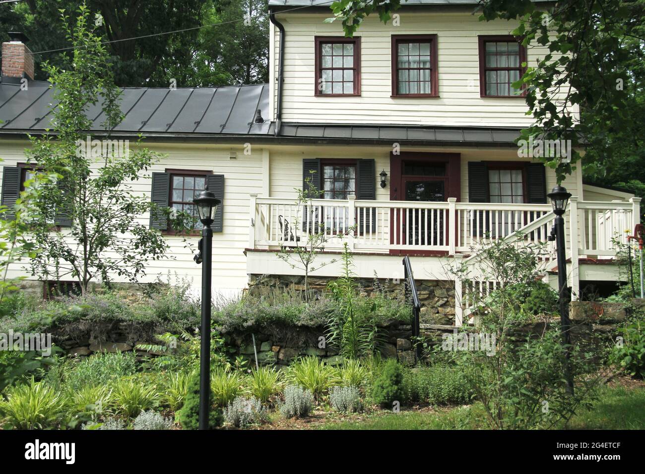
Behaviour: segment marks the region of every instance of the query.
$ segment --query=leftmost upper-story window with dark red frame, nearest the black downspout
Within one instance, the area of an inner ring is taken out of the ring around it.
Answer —
[[[315,37],[315,95],[361,95],[361,38]]]

